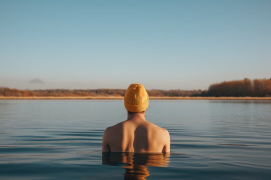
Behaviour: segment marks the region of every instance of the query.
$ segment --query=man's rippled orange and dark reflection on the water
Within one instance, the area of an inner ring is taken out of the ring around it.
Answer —
[[[148,166],[167,167],[170,153],[102,152],[102,164],[122,166],[124,179],[146,179]]]

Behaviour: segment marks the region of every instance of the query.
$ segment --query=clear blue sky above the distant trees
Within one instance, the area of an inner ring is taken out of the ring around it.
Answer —
[[[271,0],[0,0],[0,86],[207,89],[271,77]]]

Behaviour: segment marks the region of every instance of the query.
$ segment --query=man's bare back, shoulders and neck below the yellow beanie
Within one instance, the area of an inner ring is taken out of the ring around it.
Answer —
[[[127,120],[105,129],[105,152],[169,152],[169,132],[145,119],[145,113],[128,115]]]

